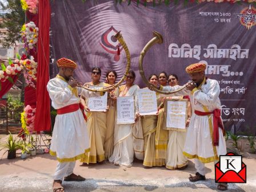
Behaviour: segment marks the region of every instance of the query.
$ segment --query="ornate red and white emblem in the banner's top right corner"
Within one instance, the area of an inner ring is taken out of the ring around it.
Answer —
[[[235,18],[239,19],[240,23],[249,30],[256,24],[256,9],[249,5],[240,14],[235,14]]]

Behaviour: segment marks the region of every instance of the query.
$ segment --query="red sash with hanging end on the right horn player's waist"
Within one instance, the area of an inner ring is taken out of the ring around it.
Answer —
[[[206,116],[213,114],[213,145],[219,145],[219,128],[222,129],[223,135],[225,134],[224,126],[221,120],[221,110],[215,109],[213,112],[202,112],[195,110],[195,115]]]

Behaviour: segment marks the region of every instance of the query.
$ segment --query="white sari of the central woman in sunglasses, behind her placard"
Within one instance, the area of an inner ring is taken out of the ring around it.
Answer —
[[[130,87],[127,93],[121,92],[119,96],[135,96],[137,97],[138,85]],[[135,99],[135,110],[138,111],[137,99]],[[133,164],[134,148],[136,150],[136,157],[143,158],[143,133],[141,126],[136,124],[118,125],[115,120],[114,129],[114,150],[112,156],[109,158],[110,162],[116,165],[123,165],[130,167]],[[133,137],[134,136],[136,137]],[[141,137],[141,139],[139,138]]]

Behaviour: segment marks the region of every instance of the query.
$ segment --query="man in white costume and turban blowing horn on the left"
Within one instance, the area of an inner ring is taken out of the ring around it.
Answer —
[[[51,105],[57,109],[53,137],[51,138],[50,154],[57,156],[58,164],[54,173],[53,191],[64,191],[64,181],[85,181],[85,178],[73,173],[75,161],[89,152],[89,137],[85,117],[80,110],[80,99],[99,96],[77,87],[77,80],[72,78],[77,64],[72,60],[61,58],[57,60],[58,75],[47,84]],[[72,79],[72,80],[71,80]]]

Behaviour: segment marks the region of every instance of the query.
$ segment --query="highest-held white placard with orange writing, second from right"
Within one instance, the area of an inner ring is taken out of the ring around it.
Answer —
[[[139,89],[138,107],[139,115],[155,115],[157,113],[157,95],[150,89]]]

